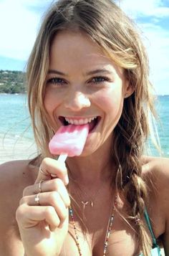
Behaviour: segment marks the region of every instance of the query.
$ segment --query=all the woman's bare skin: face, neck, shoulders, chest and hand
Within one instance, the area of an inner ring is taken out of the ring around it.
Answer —
[[[107,71],[89,74],[102,69]],[[100,116],[100,122],[87,137],[82,155],[67,158],[71,171],[69,185],[66,166],[52,158],[44,158],[41,166],[46,174],[57,175],[57,179],[45,176],[39,171],[38,164],[32,165],[29,161],[13,161],[0,166],[0,202],[3,209],[0,215],[1,255],[20,256],[24,255],[24,250],[27,256],[79,255],[74,243],[72,223],[68,224],[68,186],[79,204],[77,186],[85,191],[81,193],[84,201],[87,201],[86,194],[91,197],[97,191],[95,206],[87,206],[84,212],[87,240],[84,239],[76,214],[74,220],[82,255],[103,254],[112,198],[115,197],[113,188],[110,189],[110,178],[115,171],[109,154],[113,129],[122,113],[126,94],[129,97],[132,92],[123,71],[86,35],[60,32],[54,38],[44,97],[44,105],[54,130],[57,131],[62,125],[59,120],[61,115],[76,120]],[[142,163],[143,178],[149,188],[147,208],[153,232],[155,237],[162,240],[165,254],[168,255],[169,204],[166,195],[169,192],[169,161],[166,158],[162,161],[161,158],[143,156]],[[41,206],[37,206],[34,198],[42,179],[42,193],[39,195]],[[126,210],[122,199],[118,200],[117,207],[122,212]],[[135,232],[119,214],[115,214],[107,255],[138,254]]]

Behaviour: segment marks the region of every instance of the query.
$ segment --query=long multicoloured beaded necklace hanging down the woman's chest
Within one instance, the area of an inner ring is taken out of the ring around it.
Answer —
[[[103,256],[105,256],[106,252],[107,252],[107,245],[108,245],[108,240],[109,240],[109,237],[110,237],[110,233],[112,232],[112,222],[113,222],[114,217],[115,217],[115,207],[116,207],[116,205],[117,205],[117,196],[115,196],[114,206],[112,208],[112,214],[110,216],[108,226],[107,226],[107,232],[106,232],[106,236],[105,236],[105,243],[104,243],[104,247],[103,247]],[[78,252],[79,252],[79,256],[82,256],[82,250],[79,246],[79,237],[77,235],[77,227],[76,227],[75,222],[74,222],[74,214],[73,214],[73,210],[72,210],[71,206],[69,206],[69,215],[72,219],[72,223],[73,223],[73,227],[74,227],[75,241],[76,241],[77,249],[78,249]]]

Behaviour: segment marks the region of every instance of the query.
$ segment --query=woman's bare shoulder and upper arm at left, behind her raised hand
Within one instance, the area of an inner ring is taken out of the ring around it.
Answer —
[[[37,168],[29,161],[0,165],[0,255],[24,255],[15,213],[23,190],[34,184]]]

